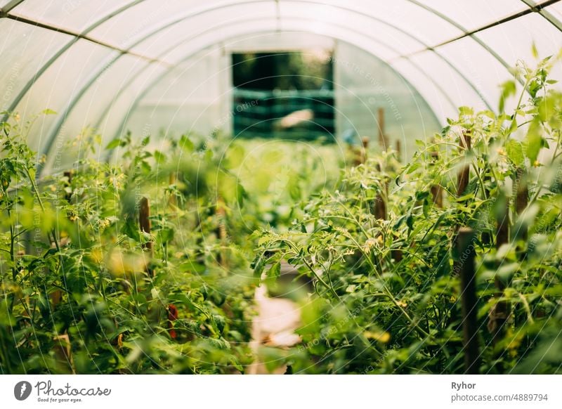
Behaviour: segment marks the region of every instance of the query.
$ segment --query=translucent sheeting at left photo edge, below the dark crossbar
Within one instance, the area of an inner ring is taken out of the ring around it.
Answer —
[[[0,70],[2,84],[1,108],[10,108],[12,101],[63,44],[72,37],[23,22],[0,20]]]

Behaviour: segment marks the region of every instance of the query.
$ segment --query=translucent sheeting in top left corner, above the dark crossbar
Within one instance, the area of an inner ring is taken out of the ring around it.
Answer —
[[[131,0],[25,0],[10,13],[65,30],[81,32]]]

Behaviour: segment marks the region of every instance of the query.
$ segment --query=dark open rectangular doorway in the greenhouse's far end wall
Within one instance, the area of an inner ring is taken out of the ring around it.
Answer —
[[[237,138],[334,141],[332,53],[233,53]]]

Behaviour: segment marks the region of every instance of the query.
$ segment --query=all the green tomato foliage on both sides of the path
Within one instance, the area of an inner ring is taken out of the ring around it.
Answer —
[[[182,136],[166,152],[126,136],[107,145],[118,163],[103,162],[100,137],[84,133],[71,172],[37,178],[30,124],[0,124],[0,371],[244,373],[254,288],[287,261],[313,290],[297,299],[302,342],[261,346],[270,370],[463,372],[452,242],[470,226],[481,372],[560,372],[562,93],[550,65],[518,67],[499,113],[460,108],[410,163],[368,152],[341,173],[334,146],[222,136]],[[494,342],[499,301],[509,316]]]

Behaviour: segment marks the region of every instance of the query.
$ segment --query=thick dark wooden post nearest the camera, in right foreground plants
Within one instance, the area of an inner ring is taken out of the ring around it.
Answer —
[[[478,299],[476,297],[476,271],[474,269],[474,231],[462,227],[457,234],[457,252],[461,262],[462,339],[464,346],[464,373],[478,374]]]

